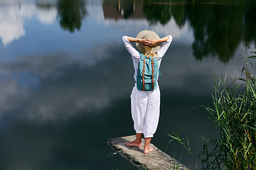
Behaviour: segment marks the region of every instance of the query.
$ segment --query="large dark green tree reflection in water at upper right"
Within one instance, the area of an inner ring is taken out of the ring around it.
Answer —
[[[171,18],[193,30],[193,56],[196,60],[218,56],[228,63],[242,40],[256,41],[255,1],[144,1],[144,14],[151,25],[166,25]],[[242,6],[242,7],[241,7]],[[171,31],[171,30],[170,30]]]

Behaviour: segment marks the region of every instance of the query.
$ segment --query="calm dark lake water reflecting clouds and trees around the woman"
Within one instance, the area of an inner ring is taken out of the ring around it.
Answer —
[[[173,36],[152,142],[191,165],[166,133],[188,137],[195,154],[201,136],[218,135],[200,106],[211,102],[213,75],[240,77],[243,42],[255,47],[255,11],[253,0],[0,0],[0,169],[132,169],[107,158],[107,139],[134,135],[122,35],[140,30]]]

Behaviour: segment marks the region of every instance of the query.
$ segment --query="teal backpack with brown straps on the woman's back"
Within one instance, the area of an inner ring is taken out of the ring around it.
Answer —
[[[157,87],[156,79],[159,62],[156,58],[149,55],[144,56],[140,53],[140,56],[137,72],[137,89],[139,91],[154,91]]]

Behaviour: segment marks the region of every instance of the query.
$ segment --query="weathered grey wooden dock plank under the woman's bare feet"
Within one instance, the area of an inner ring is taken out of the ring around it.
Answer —
[[[114,149],[115,152],[127,159],[131,164],[137,167],[137,169],[174,169],[174,166],[179,170],[188,169],[181,163],[168,154],[162,152],[160,149],[150,144],[149,147],[153,147],[154,151],[144,154],[144,140],[142,139],[142,147],[129,147],[125,145],[127,142],[135,140],[136,136],[117,137],[107,140],[107,144]]]

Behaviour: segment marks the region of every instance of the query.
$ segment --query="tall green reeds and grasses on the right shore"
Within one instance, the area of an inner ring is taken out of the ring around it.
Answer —
[[[245,44],[247,50],[251,49]],[[242,58],[255,60],[256,49],[251,52],[252,55]],[[254,68],[251,62],[246,64]],[[219,129],[219,135],[208,140],[202,137],[204,145],[200,154],[193,156],[188,139],[168,134],[172,138],[169,142],[179,142],[186,148],[196,169],[199,161],[201,169],[256,169],[256,77],[248,67],[240,72],[243,78],[235,79],[230,85],[227,85],[227,73],[215,77],[213,108],[201,107],[210,113],[208,118]]]

